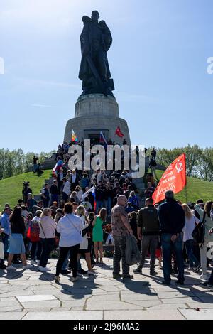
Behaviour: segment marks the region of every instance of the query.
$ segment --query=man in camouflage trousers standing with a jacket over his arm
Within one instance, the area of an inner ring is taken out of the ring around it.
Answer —
[[[114,238],[113,278],[120,275],[120,262],[122,261],[123,279],[132,279],[129,274],[129,264],[126,264],[126,237],[133,235],[128,215],[125,211],[127,205],[126,196],[120,195],[117,204],[111,210],[112,235]]]

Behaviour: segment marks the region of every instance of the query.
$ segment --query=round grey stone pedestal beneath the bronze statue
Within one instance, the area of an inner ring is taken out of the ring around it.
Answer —
[[[115,135],[117,126],[120,126],[123,138]],[[119,118],[119,104],[115,97],[102,94],[80,96],[75,104],[75,118],[67,122],[65,129],[67,142],[70,142],[72,129],[80,141],[99,139],[102,131],[107,141],[111,139],[117,144],[122,144],[125,138],[127,144],[131,144],[128,125],[124,119]]]

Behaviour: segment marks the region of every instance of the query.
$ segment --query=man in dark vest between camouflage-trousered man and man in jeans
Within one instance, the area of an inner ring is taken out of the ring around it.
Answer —
[[[136,274],[142,274],[142,268],[148,252],[151,250],[150,274],[156,275],[155,271],[155,252],[158,247],[160,224],[158,220],[158,210],[153,205],[153,198],[147,198],[146,208],[138,211],[138,239],[141,240],[141,262],[138,268],[133,270]]]

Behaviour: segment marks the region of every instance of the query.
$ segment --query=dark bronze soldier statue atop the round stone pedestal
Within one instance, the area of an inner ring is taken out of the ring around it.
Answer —
[[[82,95],[102,93],[112,95],[114,82],[111,79],[107,51],[112,38],[105,21],[99,22],[98,11],[92,17],[83,16],[84,28],[80,36],[82,61],[79,78],[82,80]]]

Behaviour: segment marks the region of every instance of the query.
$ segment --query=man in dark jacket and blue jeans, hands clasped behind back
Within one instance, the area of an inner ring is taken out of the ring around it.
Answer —
[[[174,199],[174,193],[165,193],[165,203],[159,206],[161,242],[163,249],[163,284],[170,285],[171,253],[175,252],[178,263],[177,284],[184,284],[184,262],[182,257],[182,229],[185,226],[185,213]]]

